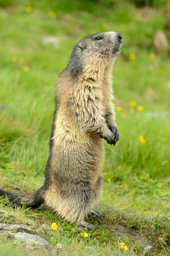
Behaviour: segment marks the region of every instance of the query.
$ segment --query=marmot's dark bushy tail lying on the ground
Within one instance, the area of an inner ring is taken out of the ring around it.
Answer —
[[[21,205],[21,206],[25,205],[26,207],[36,208],[40,204],[44,203],[44,192],[45,190],[44,190],[44,187],[42,186],[40,189],[38,189],[33,193],[19,197],[16,194],[0,189],[0,196],[6,195],[8,197],[8,200],[12,204]]]

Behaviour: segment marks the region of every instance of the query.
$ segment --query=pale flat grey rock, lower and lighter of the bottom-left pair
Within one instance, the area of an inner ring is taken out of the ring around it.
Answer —
[[[22,232],[18,232],[14,234],[14,238],[21,239],[23,240],[23,242],[29,245],[32,245],[32,244],[47,245],[48,244],[48,241],[41,238],[40,236],[22,233]]]

